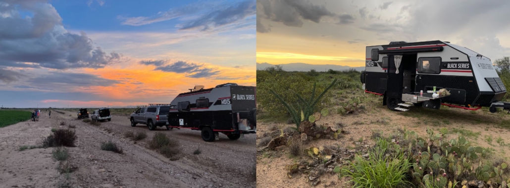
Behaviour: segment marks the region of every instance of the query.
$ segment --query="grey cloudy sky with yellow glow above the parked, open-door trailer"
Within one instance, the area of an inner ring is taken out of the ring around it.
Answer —
[[[510,1],[257,0],[257,63],[364,66],[365,46],[442,40],[510,56]]]

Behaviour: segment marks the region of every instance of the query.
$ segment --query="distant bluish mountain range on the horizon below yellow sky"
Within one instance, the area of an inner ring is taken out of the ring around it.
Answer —
[[[267,67],[272,67],[274,65],[269,63],[257,63],[257,70],[264,70]],[[349,67],[342,65],[312,65],[306,63],[289,63],[281,65],[285,71],[310,71],[311,69],[315,69],[316,71],[327,71],[329,69],[332,70],[347,70],[354,69],[357,71],[365,70],[365,67]]]

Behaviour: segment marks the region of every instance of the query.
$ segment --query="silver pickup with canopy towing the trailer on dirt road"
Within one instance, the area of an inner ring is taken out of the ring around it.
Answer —
[[[170,111],[170,104],[149,104],[147,107],[137,109],[131,114],[131,126],[134,127],[136,124],[145,124],[149,127],[149,130],[156,130],[158,126],[168,127],[168,112]]]

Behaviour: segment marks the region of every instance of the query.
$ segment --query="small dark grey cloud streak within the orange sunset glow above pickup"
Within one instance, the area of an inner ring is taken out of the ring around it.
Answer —
[[[184,61],[177,61],[172,64],[167,64],[168,61],[157,60],[157,61],[141,61],[139,64],[143,65],[154,65],[154,70],[161,70],[163,72],[175,72],[186,74],[187,77],[201,78],[210,77],[219,73],[213,68],[205,68],[203,65],[195,63],[187,63]]]

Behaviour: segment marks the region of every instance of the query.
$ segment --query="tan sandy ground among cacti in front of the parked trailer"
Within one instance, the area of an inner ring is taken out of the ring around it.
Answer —
[[[377,103],[377,104],[376,104]],[[367,105],[367,104],[365,104]],[[447,108],[431,110],[424,108],[412,108],[407,112],[393,112],[386,106],[380,105],[378,102],[372,102],[366,106],[367,110],[363,113],[355,115],[333,115],[324,117],[317,124],[327,124],[336,126],[337,123],[345,125],[344,130],[350,132],[338,140],[313,140],[305,144],[305,148],[319,146],[341,146],[354,147],[355,142],[363,139],[363,145],[373,145],[375,141],[371,139],[372,131],[384,131],[384,136],[397,132],[397,128],[413,130],[420,137],[426,137],[426,128],[431,128],[435,133],[440,130],[447,130],[446,139],[456,138],[457,132],[464,131],[465,137],[474,145],[492,148],[493,154],[491,159],[502,158],[510,162],[510,115],[505,113],[491,114],[487,110],[468,111],[456,108]],[[330,112],[333,109],[330,110]],[[270,132],[279,131],[286,127],[293,127],[293,124],[260,122],[258,126],[259,143],[263,136],[269,135]],[[286,165],[292,165],[300,159],[293,157],[284,147],[283,151],[270,156],[259,152],[257,156],[257,186],[258,187],[311,187],[309,182],[305,181],[308,176],[301,175],[293,178],[287,177]],[[303,159],[310,158],[304,156]],[[339,179],[336,174],[325,174],[320,177],[321,183],[316,187],[350,187],[345,183],[345,178]]]

